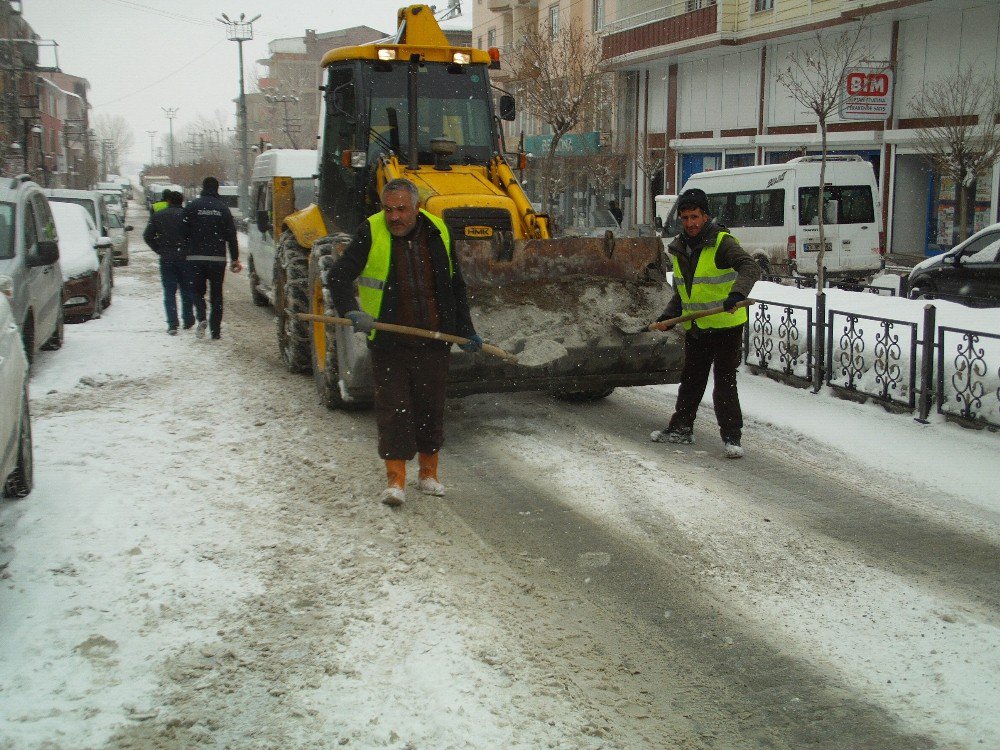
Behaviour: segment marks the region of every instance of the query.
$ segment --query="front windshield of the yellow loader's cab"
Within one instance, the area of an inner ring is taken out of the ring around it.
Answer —
[[[370,73],[370,156],[391,148],[401,159],[409,154],[407,134],[408,63]],[[432,138],[455,142],[453,164],[485,164],[496,144],[489,113],[489,81],[481,65],[421,64],[417,74],[417,150],[421,164],[434,161]]]

